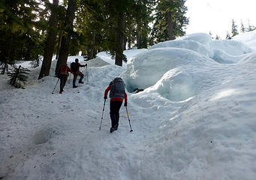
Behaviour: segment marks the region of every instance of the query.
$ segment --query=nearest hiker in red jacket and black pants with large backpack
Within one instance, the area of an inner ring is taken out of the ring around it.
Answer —
[[[107,93],[110,91],[110,118],[111,128],[110,133],[117,130],[119,125],[119,110],[122,106],[122,101],[125,99],[124,106],[127,107],[127,95],[125,92],[125,83],[121,77],[116,77],[110,82],[104,93],[104,99],[107,99]]]

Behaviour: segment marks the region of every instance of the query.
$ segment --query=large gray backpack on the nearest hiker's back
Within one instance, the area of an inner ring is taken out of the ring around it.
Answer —
[[[125,98],[125,83],[121,77],[116,77],[110,83],[110,99],[113,98]]]

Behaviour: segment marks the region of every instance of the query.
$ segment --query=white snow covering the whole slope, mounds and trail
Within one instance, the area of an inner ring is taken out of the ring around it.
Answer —
[[[74,58],[88,64],[80,69],[85,84],[72,89],[68,78],[62,95],[59,84],[52,95],[56,61],[42,80],[40,67],[31,68],[26,89],[14,89],[1,75],[0,177],[253,180],[255,33],[230,41],[188,34],[125,51],[124,67],[106,52],[86,62],[71,56],[68,65]],[[114,77],[125,80],[133,132],[125,107],[119,129],[109,132],[103,96]]]

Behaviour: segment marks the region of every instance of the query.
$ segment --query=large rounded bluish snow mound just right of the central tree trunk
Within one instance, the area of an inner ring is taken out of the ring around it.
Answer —
[[[134,92],[135,89],[146,89],[155,85],[167,71],[172,71],[175,68],[184,67],[185,70],[189,71],[191,66],[197,67],[191,68],[190,72],[184,72],[184,74],[182,71],[180,71],[181,74],[177,72],[170,73],[173,74],[176,80],[182,81],[182,78],[185,77],[191,80],[192,73],[197,74],[198,71],[209,71],[209,67],[214,65],[218,65],[218,63],[188,49],[157,48],[150,49],[148,52],[137,55],[136,58],[132,59],[122,77],[125,80],[128,92]],[[176,75],[174,76],[174,74]],[[166,76],[170,77],[170,75]],[[173,82],[173,80],[170,80],[170,82]],[[185,91],[193,92],[192,89]],[[173,95],[170,96],[173,97]]]

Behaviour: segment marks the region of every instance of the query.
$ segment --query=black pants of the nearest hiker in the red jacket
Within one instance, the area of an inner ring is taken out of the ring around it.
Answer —
[[[116,129],[119,125],[119,110],[121,106],[122,101],[110,101],[111,127]]]

